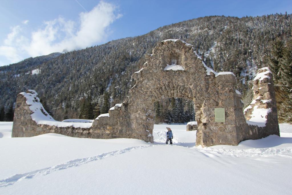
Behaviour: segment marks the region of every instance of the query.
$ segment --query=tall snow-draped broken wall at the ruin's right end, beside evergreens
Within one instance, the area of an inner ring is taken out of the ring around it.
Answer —
[[[253,100],[244,109],[244,116],[250,128],[249,137],[252,139],[270,134],[280,135],[272,78],[270,69],[264,67],[258,70],[253,79]]]

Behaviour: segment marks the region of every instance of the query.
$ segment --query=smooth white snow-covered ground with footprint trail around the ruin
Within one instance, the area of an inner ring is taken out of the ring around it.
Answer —
[[[165,145],[166,127],[174,145]],[[58,134],[11,138],[0,122],[0,194],[291,194],[292,125],[281,137],[195,146],[186,125],[155,125],[154,143]]]

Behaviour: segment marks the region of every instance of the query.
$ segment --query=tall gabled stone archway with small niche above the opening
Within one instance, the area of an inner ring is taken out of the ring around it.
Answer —
[[[233,73],[218,74],[207,68],[192,46],[181,40],[160,42],[152,52],[143,68],[134,73],[136,84],[129,90],[127,103],[133,129],[152,134],[151,108],[158,99],[188,98],[195,104],[197,145],[238,144],[239,124],[245,123],[245,118]],[[166,68],[173,58],[177,66]],[[214,108],[225,108],[224,123],[215,122]],[[150,137],[148,141],[152,141]]]

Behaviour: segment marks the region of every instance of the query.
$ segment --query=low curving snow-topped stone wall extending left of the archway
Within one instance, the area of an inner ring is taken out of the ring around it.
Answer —
[[[56,121],[40,103],[34,90],[18,94],[15,105],[12,137],[32,137],[45,133],[58,133],[81,138],[128,138],[127,114],[122,103],[109,109],[109,113],[95,120],[66,119]],[[93,125],[94,124],[94,125]],[[109,126],[114,127],[109,131]]]

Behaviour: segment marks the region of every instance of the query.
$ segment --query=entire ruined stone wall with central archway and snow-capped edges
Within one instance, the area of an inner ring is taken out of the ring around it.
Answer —
[[[217,73],[208,68],[192,45],[184,41],[165,40],[146,55],[146,63],[132,75],[136,84],[125,101],[93,123],[55,121],[39,103],[36,92],[18,94],[12,136],[53,132],[72,137],[153,142],[153,104],[172,97],[194,101],[197,146],[238,145],[246,139],[279,135],[272,73],[268,68],[258,73],[253,81],[254,100],[243,112],[233,73]]]

